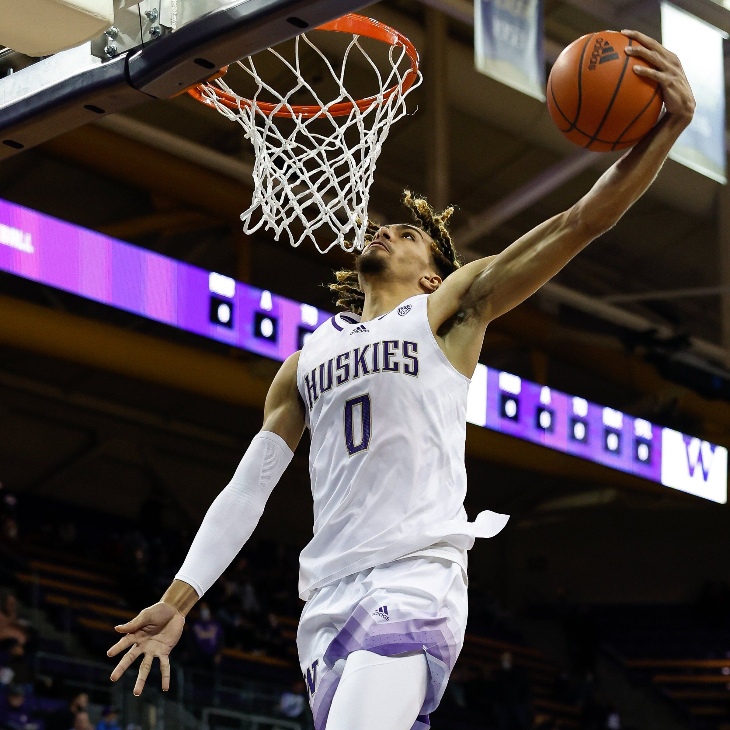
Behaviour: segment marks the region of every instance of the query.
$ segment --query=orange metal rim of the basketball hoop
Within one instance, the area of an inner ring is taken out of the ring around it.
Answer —
[[[402,33],[394,30],[390,26],[386,26],[385,23],[380,23],[379,20],[373,18],[366,18],[364,15],[357,15],[354,12],[343,15],[342,18],[332,20],[330,23],[325,23],[323,26],[315,28],[316,31],[336,31],[337,33],[351,33],[356,36],[364,36],[366,38],[373,38],[383,43],[388,43],[393,46],[401,46],[410,58],[411,67],[410,71],[404,77],[402,84],[402,92],[407,91],[411,88],[415,80],[418,78],[418,51],[415,50],[415,46],[410,42],[407,37]],[[393,93],[398,91],[399,85],[396,84],[391,86],[387,91],[383,93],[383,101],[389,99]],[[228,107],[231,110],[238,110],[239,101],[235,96],[223,91],[217,86],[212,85],[210,82],[194,86],[188,89],[188,93],[200,101],[201,104],[205,104],[207,107],[215,108],[215,104],[208,98],[207,94],[204,93],[204,89],[209,89],[215,96],[218,97],[220,104],[224,107]],[[378,100],[378,96],[368,96],[366,99],[359,99],[358,101],[342,101],[339,104],[333,104],[328,107],[329,115],[333,117],[344,117],[350,114],[350,112],[357,107],[359,110],[364,111],[372,106],[374,101]],[[249,104],[253,104],[251,99],[244,99]],[[302,117],[304,119],[310,119],[320,115],[324,107],[320,107],[317,104],[314,105],[299,105],[291,106],[286,109],[280,108],[278,104],[269,104],[268,101],[257,101],[256,108],[266,116],[274,117]],[[278,108],[278,111],[276,111]]]

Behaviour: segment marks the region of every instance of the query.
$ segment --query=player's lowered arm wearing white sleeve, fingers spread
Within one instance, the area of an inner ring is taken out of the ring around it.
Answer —
[[[112,672],[118,680],[144,654],[134,694],[142,694],[153,659],[160,660],[162,688],[170,685],[169,653],[180,639],[185,616],[237,556],[264,512],[266,499],[291,461],[304,431],[304,404],[296,387],[299,353],[274,378],[264,406],[264,426],[251,441],[231,482],[211,504],[183,567],[158,603],[115,630],[125,636],[107,652],[128,649]]]

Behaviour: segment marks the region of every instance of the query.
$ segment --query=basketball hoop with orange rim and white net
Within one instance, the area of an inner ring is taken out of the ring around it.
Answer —
[[[188,93],[238,122],[253,144],[253,199],[241,215],[245,233],[264,226],[274,231],[277,240],[285,231],[292,246],[309,238],[320,253],[336,245],[348,251],[362,250],[377,158],[393,122],[407,114],[406,96],[420,85],[418,51],[393,28],[354,13],[315,30],[352,34],[339,69],[302,34],[295,39],[293,62],[277,50],[268,49],[293,74],[291,91],[281,93],[264,81],[253,56],[249,56],[237,61],[237,66],[255,84],[251,98],[239,96],[223,77]],[[361,37],[390,46],[388,69],[379,69],[362,46]],[[304,79],[300,47],[318,54],[331,74],[337,87],[331,101],[322,101],[312,83]],[[363,99],[353,98],[345,88],[345,68],[355,53],[361,53],[361,60],[372,69],[378,84],[377,93]],[[274,101],[264,101],[262,93]],[[316,103],[295,104],[291,97],[296,93],[308,93]],[[283,118],[292,123],[277,126],[277,119]],[[315,237],[315,231],[322,226],[335,234],[334,240],[323,241],[321,234],[319,239]],[[352,240],[347,242],[346,238]]]

